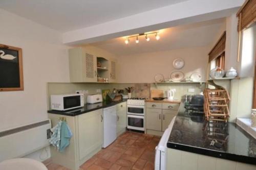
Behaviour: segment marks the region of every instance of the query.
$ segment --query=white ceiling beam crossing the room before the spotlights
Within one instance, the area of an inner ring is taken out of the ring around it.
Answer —
[[[244,0],[189,0],[62,34],[65,44],[76,45],[160,30],[192,22],[230,16]],[[127,7],[129,8],[129,7]]]

